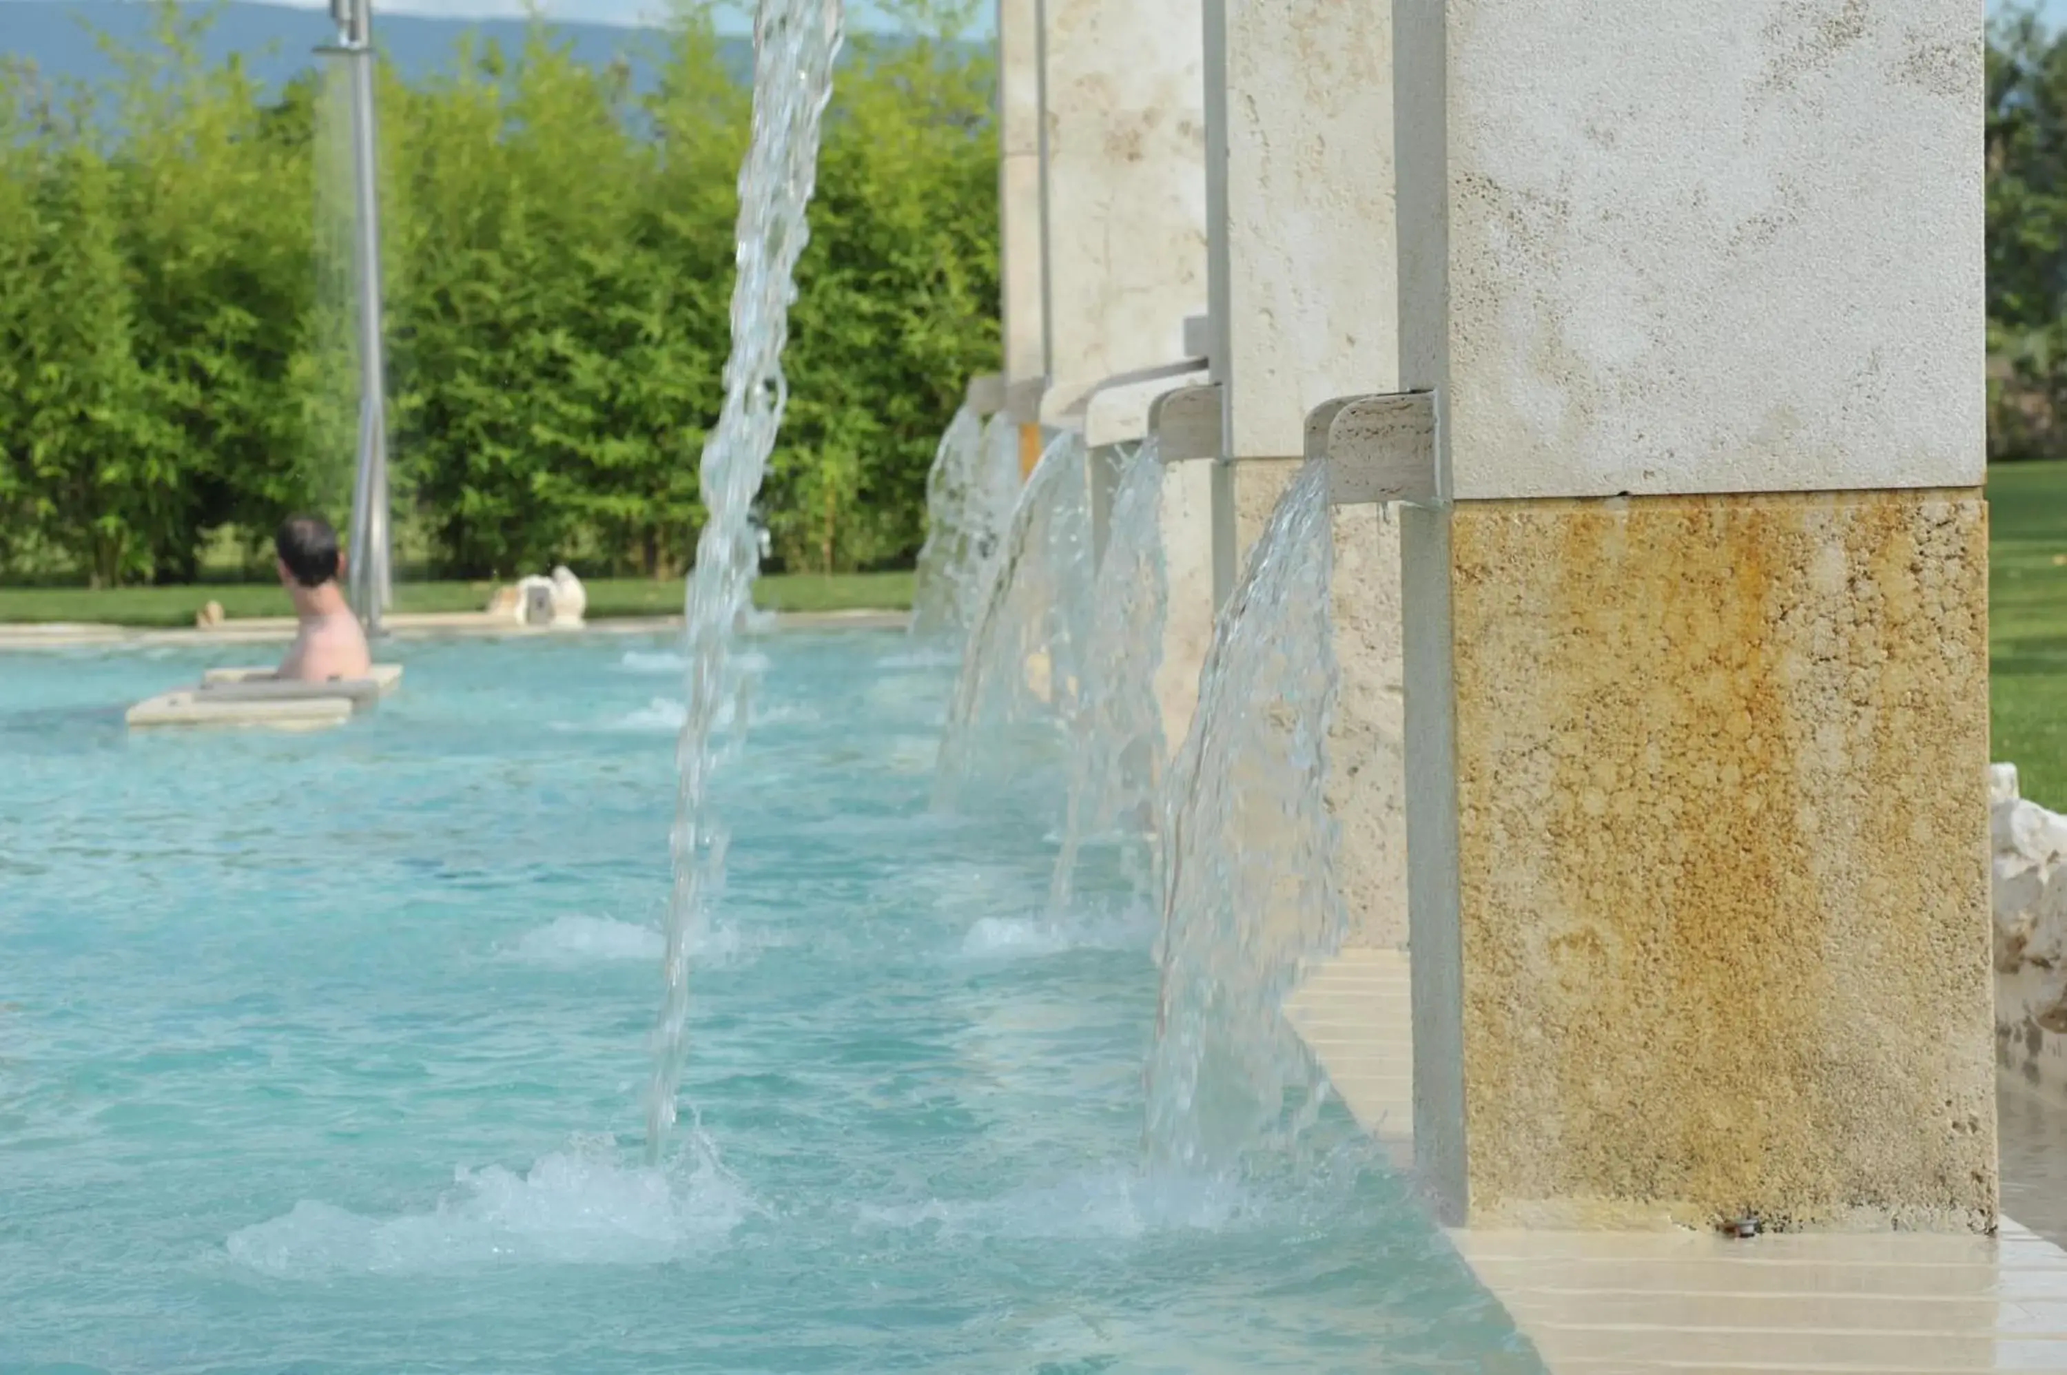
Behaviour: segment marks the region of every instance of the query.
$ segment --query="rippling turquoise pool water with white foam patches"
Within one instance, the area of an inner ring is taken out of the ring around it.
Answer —
[[[1042,914],[1056,780],[930,815],[951,666],[754,653],[661,1170],[666,645],[403,643],[320,736],[0,655],[0,1369],[1536,1369],[1362,1150],[1141,1179],[1151,924]]]

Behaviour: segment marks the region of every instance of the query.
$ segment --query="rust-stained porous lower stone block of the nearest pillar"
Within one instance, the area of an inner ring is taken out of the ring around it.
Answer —
[[[1980,494],[1447,538],[1472,1222],[1993,1228]]]

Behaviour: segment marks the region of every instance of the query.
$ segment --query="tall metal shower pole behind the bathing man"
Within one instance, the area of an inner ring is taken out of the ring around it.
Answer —
[[[331,0],[337,45],[351,74],[353,285],[360,327],[360,447],[351,478],[351,604],[370,635],[393,600],[387,484],[387,349],[380,318],[380,178],[374,136],[372,0]]]

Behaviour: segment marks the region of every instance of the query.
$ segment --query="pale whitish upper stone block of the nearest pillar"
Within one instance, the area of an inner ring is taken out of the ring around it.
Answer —
[[[1443,391],[1449,496],[1980,484],[1982,27],[1397,6],[1399,380]]]

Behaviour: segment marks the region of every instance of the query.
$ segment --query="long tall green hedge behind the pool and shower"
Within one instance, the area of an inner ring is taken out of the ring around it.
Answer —
[[[320,77],[265,93],[165,4],[110,89],[0,66],[0,577],[188,581],[273,523],[343,519],[347,155]],[[800,267],[777,564],[918,550],[932,445],[996,366],[990,58],[852,43]],[[401,556],[676,575],[728,349],[748,91],[688,17],[657,83],[539,29],[382,70]],[[333,211],[343,205],[327,201]]]

